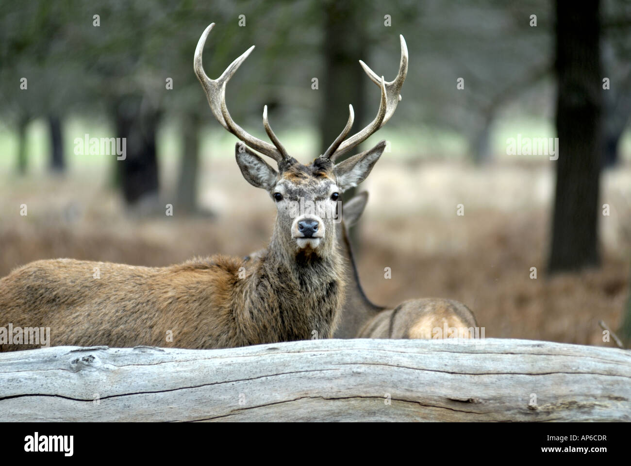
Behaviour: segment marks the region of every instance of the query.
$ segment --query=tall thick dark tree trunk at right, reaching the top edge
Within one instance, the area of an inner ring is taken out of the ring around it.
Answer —
[[[599,2],[557,0],[557,187],[550,272],[599,264]]]

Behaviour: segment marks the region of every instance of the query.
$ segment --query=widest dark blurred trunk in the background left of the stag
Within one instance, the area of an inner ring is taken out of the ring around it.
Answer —
[[[126,158],[116,161],[125,201],[133,205],[143,198],[157,197],[157,112],[144,108],[141,97],[129,96],[116,105],[115,119],[117,137],[126,138]]]

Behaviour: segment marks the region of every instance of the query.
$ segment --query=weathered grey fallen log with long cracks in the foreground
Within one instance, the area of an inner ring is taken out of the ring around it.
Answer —
[[[0,354],[3,421],[631,421],[631,352],[312,340]]]

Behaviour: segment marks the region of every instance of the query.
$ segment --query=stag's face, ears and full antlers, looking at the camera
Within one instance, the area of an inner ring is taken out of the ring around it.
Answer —
[[[245,132],[230,117],[225,99],[226,85],[252,52],[254,45],[233,61],[219,78],[211,80],[204,73],[202,52],[206,38],[214,26],[215,23],[209,25],[199,38],[194,56],[194,70],[206,92],[208,104],[216,120],[240,140],[236,146],[236,157],[244,178],[252,186],[268,191],[269,196],[276,203],[278,215],[272,241],[282,242],[284,246],[282,249],[295,254],[300,252],[318,255],[330,253],[336,247],[333,213],[336,212],[338,198],[346,189],[357,186],[370,174],[370,170],[386,147],[386,141],[380,141],[372,149],[358,153],[338,164],[335,160],[384,126],[394,114],[401,100],[399,91],[408,72],[408,49],[403,36],[399,36],[401,39],[399,73],[393,81],[387,82],[383,76],[379,78],[360,60],[364,71],[381,90],[379,111],[375,119],[361,131],[346,139],[354,119],[353,106],[349,105],[348,122],[341,134],[324,154],[315,158],[311,164],[304,165],[290,157],[272,131],[268,121],[267,105],[263,107],[263,126],[273,145]],[[253,150],[273,158],[278,164],[278,170],[267,164]],[[330,215],[327,215],[329,213]]]

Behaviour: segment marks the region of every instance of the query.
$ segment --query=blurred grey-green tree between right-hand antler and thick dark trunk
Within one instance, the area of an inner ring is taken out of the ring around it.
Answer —
[[[464,155],[485,164],[493,160],[493,126],[504,107],[519,102],[521,119],[545,112],[552,69],[550,54],[541,52],[551,48],[552,37],[545,3],[401,2],[392,7],[411,54],[399,119],[464,137]],[[536,26],[531,25],[534,13]],[[456,87],[459,78],[462,89]],[[408,96],[415,104],[405,104]],[[415,149],[423,152],[423,146]]]

